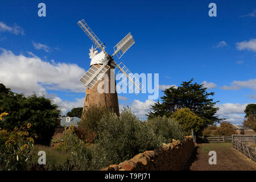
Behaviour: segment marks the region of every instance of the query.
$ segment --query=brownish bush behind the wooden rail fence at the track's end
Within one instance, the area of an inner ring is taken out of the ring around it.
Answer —
[[[209,136],[209,135],[215,135],[215,136],[230,136],[232,134],[236,134],[236,132],[234,131],[232,124],[230,122],[221,122],[220,126],[215,127],[215,126],[209,126],[212,128],[212,132],[209,134],[208,133],[203,133],[205,136]],[[215,130],[213,130],[214,128],[216,128]],[[205,129],[205,130],[210,130],[210,129]]]

